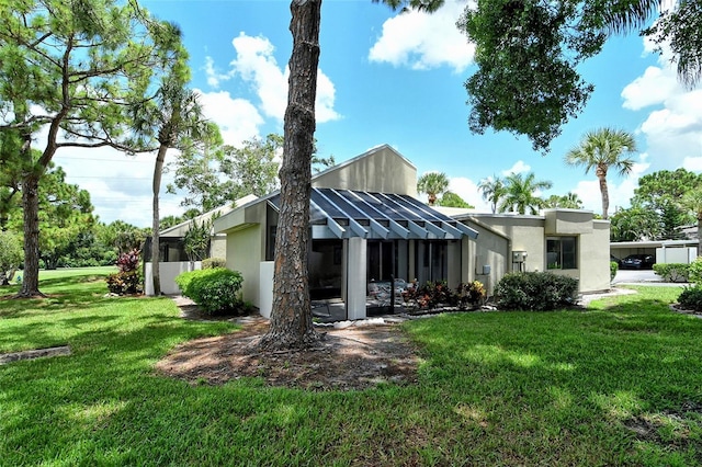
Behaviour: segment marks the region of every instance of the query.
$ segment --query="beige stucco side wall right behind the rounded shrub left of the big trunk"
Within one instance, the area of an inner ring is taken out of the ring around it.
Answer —
[[[227,267],[244,276],[244,299],[259,307],[259,277],[261,263],[261,228],[254,225],[227,234]]]

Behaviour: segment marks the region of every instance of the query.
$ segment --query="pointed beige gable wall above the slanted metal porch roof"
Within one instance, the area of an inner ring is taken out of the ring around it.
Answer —
[[[417,169],[389,146],[381,146],[315,175],[318,189],[417,196]]]

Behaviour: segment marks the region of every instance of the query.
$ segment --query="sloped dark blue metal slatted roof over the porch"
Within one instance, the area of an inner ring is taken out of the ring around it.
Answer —
[[[352,190],[312,189],[313,238],[477,238],[478,232],[411,196]],[[280,207],[280,194],[269,203]]]

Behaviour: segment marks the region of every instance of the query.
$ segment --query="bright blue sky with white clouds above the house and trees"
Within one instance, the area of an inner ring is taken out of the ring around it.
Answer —
[[[193,80],[206,115],[225,140],[283,133],[292,37],[285,0],[143,0],[159,19],[179,24]],[[632,132],[639,151],[634,173],[611,173],[610,213],[627,207],[639,176],[684,167],[702,170],[702,89],[686,91],[668,58],[649,53],[636,34],[611,39],[586,62],[596,86],[585,112],[563,128],[542,156],[526,138],[508,133],[474,135],[463,83],[476,70],[474,47],[455,26],[465,1],[448,0],[433,15],[397,14],[371,0],[326,0],[321,11],[317,132],[319,155],[338,162],[389,144],[418,174],[445,172],[451,190],[489,210],[477,184],[510,172],[535,173],[553,189],[575,192],[599,213],[592,173],[564,164],[582,135],[603,126]],[[172,160],[173,155],[167,157]],[[127,158],[110,150],[63,150],[55,156],[68,182],[91,192],[100,219],[150,226],[152,156]],[[388,174],[392,176],[392,174]],[[180,215],[182,196],[161,192],[161,216]]]

